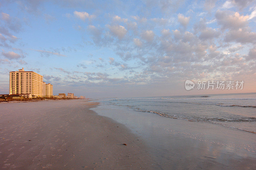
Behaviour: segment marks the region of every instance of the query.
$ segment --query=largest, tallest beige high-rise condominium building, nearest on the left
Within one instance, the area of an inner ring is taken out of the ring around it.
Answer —
[[[11,71],[9,79],[9,94],[30,93],[32,97],[43,97],[43,76],[34,71]]]

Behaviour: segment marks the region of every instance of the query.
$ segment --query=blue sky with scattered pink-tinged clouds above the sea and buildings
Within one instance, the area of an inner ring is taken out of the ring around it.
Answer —
[[[256,1],[2,0],[0,48],[0,94],[22,67],[54,95],[256,92]],[[186,80],[244,84],[188,91]]]

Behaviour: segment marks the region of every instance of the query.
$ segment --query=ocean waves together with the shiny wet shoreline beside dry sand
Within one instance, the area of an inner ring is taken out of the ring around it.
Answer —
[[[256,93],[98,101],[92,110],[131,129],[163,169],[256,167]]]

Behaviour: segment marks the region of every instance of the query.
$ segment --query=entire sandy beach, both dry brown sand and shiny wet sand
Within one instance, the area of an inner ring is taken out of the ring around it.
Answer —
[[[0,103],[0,169],[255,169],[255,134],[87,100]],[[97,113],[96,113],[97,112]]]

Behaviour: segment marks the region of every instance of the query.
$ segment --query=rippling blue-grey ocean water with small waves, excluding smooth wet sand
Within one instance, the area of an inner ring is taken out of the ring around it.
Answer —
[[[256,93],[117,98],[100,102],[167,119],[207,122],[256,133]]]

